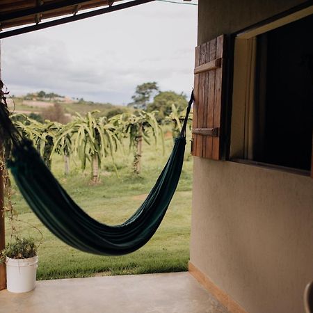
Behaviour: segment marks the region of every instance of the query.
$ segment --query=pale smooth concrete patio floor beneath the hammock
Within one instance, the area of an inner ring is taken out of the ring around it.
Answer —
[[[39,281],[0,291],[0,312],[228,313],[188,272]]]

